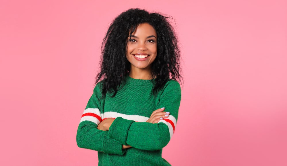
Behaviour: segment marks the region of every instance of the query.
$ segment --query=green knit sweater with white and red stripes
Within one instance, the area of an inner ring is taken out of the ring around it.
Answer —
[[[153,80],[126,78],[117,95],[102,98],[101,82],[94,88],[77,130],[81,148],[98,151],[98,165],[170,165],[161,157],[177,123],[180,85],[169,80],[153,94]],[[165,108],[170,116],[156,124],[146,122],[152,112]],[[105,118],[115,118],[109,131],[98,130]],[[131,148],[122,149],[122,145]]]

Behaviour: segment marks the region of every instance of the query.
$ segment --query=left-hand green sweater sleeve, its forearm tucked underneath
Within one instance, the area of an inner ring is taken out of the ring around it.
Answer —
[[[108,131],[98,130],[98,124],[102,121],[101,110],[104,99],[101,99],[99,83],[94,88],[94,93],[88,101],[77,130],[77,145],[80,148],[102,151],[123,155],[125,149],[122,144],[108,136]]]

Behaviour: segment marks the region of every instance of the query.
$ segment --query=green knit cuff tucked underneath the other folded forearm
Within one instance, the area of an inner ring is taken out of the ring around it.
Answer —
[[[104,134],[103,138],[103,152],[104,153],[111,153],[117,155],[123,155],[126,152],[126,149],[123,149],[123,144],[117,142],[114,139],[111,139],[108,136],[108,132]]]

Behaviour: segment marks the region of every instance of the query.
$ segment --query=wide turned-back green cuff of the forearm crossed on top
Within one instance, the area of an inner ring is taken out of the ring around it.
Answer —
[[[110,125],[108,136],[127,145],[127,132],[133,122],[135,121],[117,117],[112,125]]]

